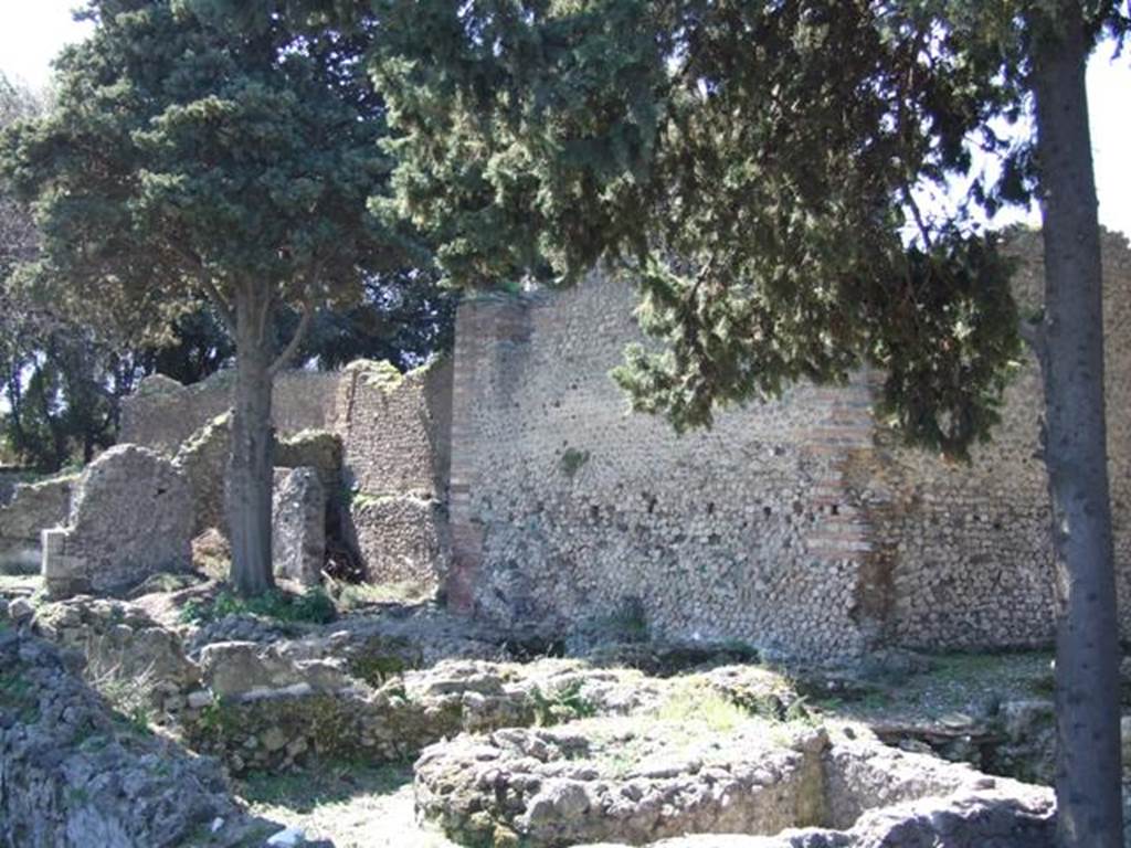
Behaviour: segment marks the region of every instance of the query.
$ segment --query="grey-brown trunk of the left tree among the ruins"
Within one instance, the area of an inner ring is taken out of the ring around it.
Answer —
[[[227,520],[232,537],[232,582],[240,595],[260,595],[275,585],[271,568],[271,490],[275,431],[271,427],[270,315],[241,292],[235,302],[235,396]]]

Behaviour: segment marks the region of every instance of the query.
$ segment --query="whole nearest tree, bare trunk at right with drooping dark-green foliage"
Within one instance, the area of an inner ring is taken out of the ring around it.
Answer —
[[[308,2],[312,16],[336,3]],[[379,0],[395,197],[461,286],[634,280],[659,353],[618,372],[677,427],[871,363],[906,438],[962,456],[1031,340],[1062,569],[1060,840],[1121,845],[1102,286],[1083,68],[1116,0]],[[1002,122],[1031,116],[1019,144]],[[1028,136],[1028,138],[1026,138]],[[999,158],[1000,179],[972,150]],[[916,191],[973,179],[931,216]],[[979,210],[1043,205],[1021,322]]]

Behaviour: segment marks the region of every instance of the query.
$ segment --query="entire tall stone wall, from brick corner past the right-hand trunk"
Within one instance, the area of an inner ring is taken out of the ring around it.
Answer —
[[[1131,252],[1105,239],[1121,596],[1131,570]],[[1021,300],[1041,289],[1022,234]],[[1027,361],[969,466],[897,444],[872,381],[792,388],[676,438],[608,379],[638,338],[630,289],[466,302],[457,323],[449,598],[507,624],[642,611],[654,634],[845,656],[1051,639],[1039,375]],[[1131,616],[1131,604],[1124,603]]]

